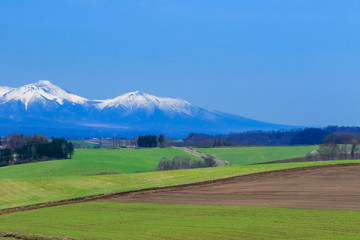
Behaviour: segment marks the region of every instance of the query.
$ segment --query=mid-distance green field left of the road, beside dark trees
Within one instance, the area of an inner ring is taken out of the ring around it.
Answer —
[[[163,157],[186,156],[199,159],[175,148],[151,149],[76,149],[73,159],[0,167],[0,180],[9,178],[82,176],[100,173],[153,171]]]

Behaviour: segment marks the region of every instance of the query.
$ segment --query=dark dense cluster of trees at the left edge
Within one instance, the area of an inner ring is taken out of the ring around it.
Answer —
[[[46,136],[13,134],[2,139],[0,166],[71,158],[74,146],[63,138],[48,139]]]

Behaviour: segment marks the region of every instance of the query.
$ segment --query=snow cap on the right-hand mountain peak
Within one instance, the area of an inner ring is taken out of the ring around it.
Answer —
[[[164,112],[184,114],[191,114],[194,108],[192,104],[182,99],[156,97],[139,91],[129,92],[113,99],[99,100],[97,107],[101,110],[121,107],[128,112],[138,109],[145,109],[151,112],[158,108]]]

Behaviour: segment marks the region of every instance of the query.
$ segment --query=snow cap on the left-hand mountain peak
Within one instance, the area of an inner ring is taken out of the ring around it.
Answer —
[[[33,102],[46,103],[46,101],[54,101],[63,105],[65,101],[72,104],[83,104],[88,100],[86,98],[71,94],[58,86],[51,84],[49,81],[38,81],[14,88],[7,93],[0,95],[0,103],[10,101],[21,101],[27,109],[28,105]]]

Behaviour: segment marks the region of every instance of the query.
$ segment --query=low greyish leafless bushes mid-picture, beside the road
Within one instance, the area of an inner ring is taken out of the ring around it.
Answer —
[[[163,158],[157,167],[157,170],[176,170],[176,169],[191,169],[191,168],[205,168],[216,167],[217,164],[212,157],[203,157],[203,161],[193,160],[183,156],[176,156],[173,159]]]

